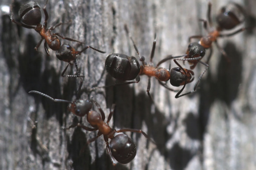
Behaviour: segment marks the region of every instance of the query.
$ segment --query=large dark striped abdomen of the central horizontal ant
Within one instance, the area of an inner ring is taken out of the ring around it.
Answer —
[[[135,57],[124,54],[110,54],[106,58],[107,72],[118,80],[133,80],[140,72],[140,65]]]

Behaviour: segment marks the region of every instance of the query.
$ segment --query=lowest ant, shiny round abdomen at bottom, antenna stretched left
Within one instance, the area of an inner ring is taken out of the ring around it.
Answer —
[[[95,141],[99,136],[103,135],[104,140],[106,142],[106,151],[110,156],[113,166],[116,165],[116,162],[114,161],[113,157],[119,163],[127,164],[133,160],[133,158],[136,156],[136,153],[137,153],[136,145],[134,144],[133,140],[131,140],[127,135],[118,134],[118,135],[114,136],[114,134],[120,133],[120,132],[137,132],[137,133],[142,133],[147,139],[151,140],[145,132],[143,132],[142,130],[139,130],[139,129],[123,128],[120,130],[116,130],[114,128],[111,128],[108,125],[108,123],[114,113],[115,104],[112,104],[108,119],[106,122],[104,122],[105,121],[105,113],[101,109],[100,104],[98,104],[95,100],[92,99],[92,96],[91,96],[91,100],[96,104],[100,113],[98,113],[94,110],[91,110],[92,103],[90,100],[81,100],[80,99],[80,100],[74,100],[71,102],[68,100],[53,99],[52,97],[50,97],[44,93],[41,93],[39,91],[30,91],[29,93],[37,93],[39,95],[47,97],[48,99],[53,100],[54,102],[71,103],[71,107],[68,106],[68,110],[70,112],[74,113],[75,115],[77,115],[79,117],[83,117],[84,115],[86,115],[87,121],[93,128],[81,125],[80,123],[77,123],[75,125],[71,125],[70,127],[66,128],[66,129],[70,129],[70,128],[77,126],[77,127],[83,128],[84,130],[87,130],[87,131],[98,130],[97,136],[89,139],[87,141],[86,145]],[[108,139],[110,139],[110,142],[108,142]],[[154,141],[152,141],[152,142],[155,144]],[[83,149],[81,149],[81,151],[83,151]]]

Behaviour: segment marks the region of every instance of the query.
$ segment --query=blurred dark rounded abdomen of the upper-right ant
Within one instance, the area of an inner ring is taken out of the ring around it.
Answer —
[[[220,29],[230,30],[239,25],[245,19],[245,12],[242,6],[236,3],[229,3],[223,6],[216,17]]]

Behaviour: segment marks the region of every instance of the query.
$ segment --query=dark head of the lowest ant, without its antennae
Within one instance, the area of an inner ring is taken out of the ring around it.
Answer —
[[[91,109],[92,103],[90,100],[75,100],[71,103],[71,108],[69,108],[70,112],[80,117],[88,114]]]

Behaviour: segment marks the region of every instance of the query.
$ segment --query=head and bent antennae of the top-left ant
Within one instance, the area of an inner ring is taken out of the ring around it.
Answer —
[[[56,57],[60,61],[65,61],[65,62],[68,63],[66,68],[63,70],[61,76],[62,77],[79,77],[80,78],[80,85],[79,85],[79,88],[78,88],[78,91],[77,91],[77,99],[79,98],[79,92],[80,92],[82,84],[83,84],[83,79],[81,77],[84,77],[84,76],[80,75],[80,72],[79,72],[78,67],[77,67],[77,55],[81,55],[81,53],[84,52],[88,48],[91,48],[91,49],[93,49],[97,52],[100,52],[100,53],[106,53],[106,52],[101,51],[99,49],[93,48],[89,45],[87,45],[81,51],[76,51],[75,48],[73,48],[71,45],[69,45],[67,43],[62,44],[60,49],[58,49],[58,51],[56,51]],[[72,65],[71,61],[74,61],[74,63],[75,63],[77,75],[64,75],[68,66]]]

